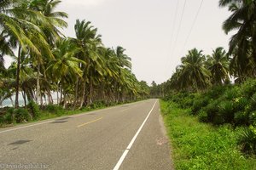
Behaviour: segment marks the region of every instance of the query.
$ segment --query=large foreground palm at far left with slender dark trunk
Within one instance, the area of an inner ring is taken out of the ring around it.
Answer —
[[[49,44],[45,41],[44,33],[40,26],[47,25],[44,16],[30,8],[24,8],[26,1],[6,0],[0,2],[0,28],[3,28],[8,41],[13,47],[18,47],[16,69],[15,107],[19,106],[20,90],[20,58],[22,52],[37,56],[50,55]],[[2,31],[1,31],[2,32]]]

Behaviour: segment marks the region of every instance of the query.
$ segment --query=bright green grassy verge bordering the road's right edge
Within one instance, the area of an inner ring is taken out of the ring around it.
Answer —
[[[256,159],[243,156],[236,144],[239,129],[199,122],[172,102],[161,100],[160,105],[175,169],[256,169]]]

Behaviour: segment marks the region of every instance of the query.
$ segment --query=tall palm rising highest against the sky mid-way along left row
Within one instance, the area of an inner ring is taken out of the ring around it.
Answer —
[[[80,65],[81,70],[83,71],[83,79],[80,81],[82,93],[80,93],[81,99],[79,108],[81,108],[85,103],[86,84],[88,82],[90,84],[89,96],[91,102],[91,90],[93,85],[92,76],[95,74],[95,71],[96,74],[102,74],[102,59],[101,56],[97,54],[97,48],[102,45],[102,39],[101,35],[97,35],[97,29],[90,26],[90,21],[77,20],[74,27],[76,38],[73,38],[73,42],[75,42],[80,49],[77,56],[85,62],[85,65]],[[77,82],[77,88],[78,84],[79,82]]]

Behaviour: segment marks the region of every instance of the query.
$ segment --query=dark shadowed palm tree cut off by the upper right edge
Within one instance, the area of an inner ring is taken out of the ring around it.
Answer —
[[[239,71],[236,76],[244,80],[246,77],[255,77],[256,63],[256,0],[220,0],[220,7],[229,7],[232,13],[224,21],[225,33],[236,30],[230,39],[229,54],[233,55],[231,64]],[[253,66],[248,66],[253,65]],[[248,71],[248,69],[253,70]],[[236,72],[236,71],[233,71]],[[252,75],[250,75],[252,74]]]

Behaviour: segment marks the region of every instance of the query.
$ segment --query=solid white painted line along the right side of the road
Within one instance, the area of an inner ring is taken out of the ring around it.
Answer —
[[[154,105],[156,104],[157,100],[154,102]],[[148,112],[148,116],[145,118],[143,124],[141,125],[141,127],[139,127],[139,129],[137,130],[137,133],[135,133],[134,137],[131,139],[130,144],[128,144],[127,148],[125,149],[123,155],[120,157],[119,161],[117,162],[117,164],[115,165],[115,167],[113,167],[113,170],[119,170],[119,167],[121,166],[122,162],[125,160],[125,156],[128,154],[129,150],[131,149],[132,144],[135,142],[135,140],[137,139],[138,134],[141,132],[141,130],[143,129],[144,124],[147,122],[148,117],[150,116],[151,112],[154,109],[154,105],[152,107],[152,109]]]

